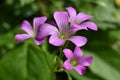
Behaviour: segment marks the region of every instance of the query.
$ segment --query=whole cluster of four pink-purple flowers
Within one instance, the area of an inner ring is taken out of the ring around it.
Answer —
[[[79,30],[94,30],[97,31],[97,26],[94,22],[89,21],[93,16],[85,13],[78,13],[73,7],[67,7],[66,11],[54,12],[55,22],[45,23],[47,17],[37,17],[33,20],[33,27],[27,20],[24,20],[20,29],[26,34],[17,34],[16,41],[21,42],[28,38],[34,38],[36,45],[44,43],[45,39],[50,36],[49,43],[53,46],[62,46],[68,40],[76,47],[74,52],[70,49],[64,49],[63,53],[67,60],[63,63],[63,67],[67,70],[74,69],[80,75],[85,73],[86,66],[91,65],[92,56],[82,56],[81,46],[87,43],[87,38],[84,36],[74,36],[73,34]]]

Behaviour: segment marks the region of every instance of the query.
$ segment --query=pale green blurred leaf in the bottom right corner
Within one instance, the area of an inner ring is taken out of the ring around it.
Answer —
[[[101,52],[102,52],[102,49],[101,49]],[[93,64],[90,66],[90,70],[94,74],[104,78],[105,80],[119,80],[120,79],[120,76],[119,76],[120,71],[118,71],[118,69],[112,65],[113,63],[110,64],[107,60],[103,59],[103,57],[98,56],[95,53],[91,53],[87,51],[84,51],[84,53],[86,55],[93,56]],[[97,54],[100,54],[99,51]],[[111,54],[111,53],[108,53],[108,54]],[[114,55],[113,55],[113,58],[109,57],[108,55],[104,55],[104,58],[109,58],[109,60],[111,58],[111,61],[113,60],[113,62],[115,60]]]

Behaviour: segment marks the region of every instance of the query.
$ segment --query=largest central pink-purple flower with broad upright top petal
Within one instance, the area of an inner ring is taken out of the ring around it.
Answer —
[[[72,29],[69,28],[68,13],[67,12],[55,12],[54,19],[57,23],[57,27],[51,24],[43,24],[39,28],[39,34],[36,39],[45,39],[50,36],[49,43],[54,46],[61,46],[66,40],[73,42],[76,46],[83,46],[86,44],[87,39],[83,36],[72,36]]]

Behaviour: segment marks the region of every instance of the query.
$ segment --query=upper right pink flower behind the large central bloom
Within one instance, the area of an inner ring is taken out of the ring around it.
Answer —
[[[97,26],[94,22],[88,21],[89,19],[93,18],[93,16],[87,15],[85,13],[78,13],[73,7],[67,7],[66,8],[69,13],[69,22],[71,22],[72,28],[77,30],[85,29],[87,28],[91,30],[97,31]]]

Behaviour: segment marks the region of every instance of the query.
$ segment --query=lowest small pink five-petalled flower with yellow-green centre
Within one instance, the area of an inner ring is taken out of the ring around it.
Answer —
[[[79,47],[75,47],[74,52],[70,49],[64,49],[63,52],[67,58],[63,63],[63,67],[66,70],[74,69],[80,75],[85,73],[86,67],[90,66],[93,60],[92,56],[82,56],[83,53]]]

